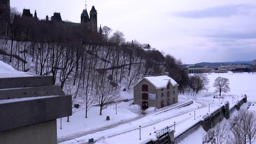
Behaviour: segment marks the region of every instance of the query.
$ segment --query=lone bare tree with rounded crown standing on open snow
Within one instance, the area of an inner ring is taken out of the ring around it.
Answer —
[[[221,92],[230,92],[230,87],[229,87],[229,80],[228,78],[222,78],[219,76],[214,80],[214,84],[212,85],[215,87],[215,92],[219,92],[221,95]]]

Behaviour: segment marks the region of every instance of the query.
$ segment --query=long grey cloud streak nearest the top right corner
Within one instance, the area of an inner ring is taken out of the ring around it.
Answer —
[[[238,14],[250,14],[250,11],[254,10],[255,7],[255,5],[249,4],[227,4],[225,6],[216,6],[202,10],[170,12],[169,14],[182,18],[227,18]]]

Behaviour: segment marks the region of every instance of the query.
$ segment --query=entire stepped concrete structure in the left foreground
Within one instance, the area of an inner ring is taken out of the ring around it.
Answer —
[[[71,102],[52,76],[0,78],[0,144],[56,144],[56,119],[72,115]]]

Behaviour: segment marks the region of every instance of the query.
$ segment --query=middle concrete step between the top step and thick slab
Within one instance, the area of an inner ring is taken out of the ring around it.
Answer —
[[[14,98],[29,98],[38,96],[61,96],[65,95],[60,86],[42,86],[34,88],[0,89],[0,100]]]

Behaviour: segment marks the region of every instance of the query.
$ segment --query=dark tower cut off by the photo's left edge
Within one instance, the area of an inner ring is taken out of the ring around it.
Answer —
[[[10,20],[10,0],[0,0],[0,36],[7,36],[6,29]]]

